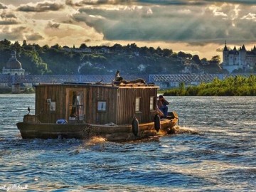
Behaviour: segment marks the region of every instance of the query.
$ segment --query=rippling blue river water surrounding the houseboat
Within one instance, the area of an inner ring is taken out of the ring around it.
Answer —
[[[16,122],[35,95],[0,95],[0,191],[255,191],[256,97],[166,99],[197,134],[26,140]]]

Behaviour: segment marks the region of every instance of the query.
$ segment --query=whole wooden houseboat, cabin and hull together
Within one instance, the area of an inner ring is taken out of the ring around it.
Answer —
[[[165,135],[178,122],[156,114],[157,89],[144,83],[63,83],[36,86],[36,112],[17,127],[23,139],[104,137],[122,142]]]

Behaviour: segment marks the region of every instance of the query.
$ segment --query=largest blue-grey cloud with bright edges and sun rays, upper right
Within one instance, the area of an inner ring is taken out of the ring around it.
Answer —
[[[236,4],[107,8],[87,6],[78,9],[72,18],[103,33],[107,41],[178,41],[190,46],[223,43],[226,39],[255,41],[256,31],[251,23],[255,15],[248,15],[247,11],[255,12],[256,6],[250,9]]]

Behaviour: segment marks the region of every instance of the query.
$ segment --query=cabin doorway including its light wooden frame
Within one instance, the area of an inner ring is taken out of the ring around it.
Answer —
[[[66,117],[69,123],[85,121],[85,92],[67,89]]]

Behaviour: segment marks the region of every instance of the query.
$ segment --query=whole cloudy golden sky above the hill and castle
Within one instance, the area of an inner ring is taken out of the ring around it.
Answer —
[[[169,48],[200,58],[256,45],[256,0],[0,0],[0,40]]]

